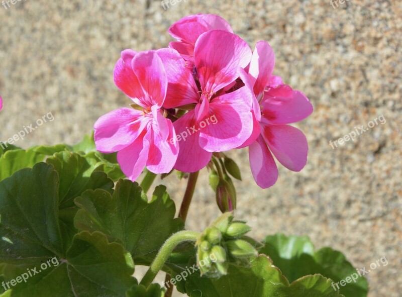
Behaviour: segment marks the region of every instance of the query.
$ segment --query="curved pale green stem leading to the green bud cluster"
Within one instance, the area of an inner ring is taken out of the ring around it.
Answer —
[[[140,284],[148,287],[151,282],[154,280],[156,274],[162,269],[163,265],[169,258],[170,254],[172,253],[173,249],[180,243],[184,241],[196,241],[199,233],[193,231],[179,231],[172,236],[163,244],[161,249],[159,250],[158,255],[152,262],[151,266],[149,267],[147,273],[145,273],[144,277],[142,278]]]

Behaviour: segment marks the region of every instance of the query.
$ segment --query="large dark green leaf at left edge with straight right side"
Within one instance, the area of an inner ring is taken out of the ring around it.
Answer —
[[[61,256],[58,174],[38,163],[0,182],[0,262],[32,264]]]

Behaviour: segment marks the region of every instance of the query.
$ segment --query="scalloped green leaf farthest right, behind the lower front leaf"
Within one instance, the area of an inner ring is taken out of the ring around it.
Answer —
[[[265,246],[260,252],[268,255],[289,281],[316,273],[331,278],[334,283],[352,274],[358,276],[356,269],[341,252],[331,248],[322,248],[315,252],[314,245],[306,236],[286,237],[277,234],[267,236],[264,242]],[[368,292],[367,280],[364,277],[358,277],[356,282],[339,287],[346,297],[365,297]]]

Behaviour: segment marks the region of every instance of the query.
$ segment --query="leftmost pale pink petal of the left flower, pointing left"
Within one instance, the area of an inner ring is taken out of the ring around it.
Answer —
[[[117,152],[138,138],[148,123],[140,111],[128,108],[112,111],[93,126],[96,149],[102,153]]]

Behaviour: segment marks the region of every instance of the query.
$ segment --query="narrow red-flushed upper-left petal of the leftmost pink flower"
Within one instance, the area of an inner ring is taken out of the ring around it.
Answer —
[[[122,92],[124,92],[127,96],[132,98],[135,103],[141,105],[144,108],[146,107],[137,99],[137,98],[143,98],[144,92],[142,91],[137,76],[134,74],[133,68],[131,67],[131,63],[126,64],[123,58],[120,58],[116,63],[113,78],[115,84],[119,89],[122,90]]]

